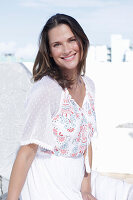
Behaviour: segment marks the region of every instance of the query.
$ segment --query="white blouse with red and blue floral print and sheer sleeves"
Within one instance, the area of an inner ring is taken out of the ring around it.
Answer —
[[[80,157],[96,135],[94,83],[84,76],[86,95],[82,108],[67,89],[44,76],[35,82],[26,101],[26,121],[21,145],[35,143],[42,152]]]

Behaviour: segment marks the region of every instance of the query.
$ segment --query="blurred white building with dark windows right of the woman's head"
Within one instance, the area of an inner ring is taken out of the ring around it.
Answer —
[[[90,46],[87,56],[89,62],[133,62],[133,47],[130,40],[121,35],[111,35],[111,46]]]

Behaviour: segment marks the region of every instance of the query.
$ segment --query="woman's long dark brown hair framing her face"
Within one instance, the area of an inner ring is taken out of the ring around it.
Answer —
[[[78,75],[85,74],[86,57],[89,47],[89,40],[84,33],[80,24],[71,16],[65,14],[56,14],[52,16],[44,25],[39,37],[39,50],[33,66],[33,80],[38,81],[43,76],[50,76],[55,79],[59,85],[64,89],[69,88],[73,84],[73,80],[64,77],[59,67],[50,57],[49,37],[48,31],[60,24],[66,24],[70,27],[75,35],[80,48],[80,62],[78,64]]]

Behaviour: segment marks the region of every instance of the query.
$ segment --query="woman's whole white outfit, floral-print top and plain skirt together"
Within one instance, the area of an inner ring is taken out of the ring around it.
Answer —
[[[27,99],[21,145],[38,145],[21,200],[82,200],[84,153],[96,134],[94,84],[83,77],[82,108],[55,80],[44,76]],[[89,172],[89,169],[88,169]]]

